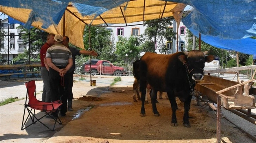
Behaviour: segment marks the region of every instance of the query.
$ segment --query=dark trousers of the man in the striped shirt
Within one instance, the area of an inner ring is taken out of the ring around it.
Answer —
[[[65,67],[58,67],[60,69]],[[67,97],[68,93],[70,92],[70,88],[68,88],[71,83],[70,75],[65,74],[63,79],[61,79],[61,76],[59,72],[56,70],[50,68],[49,69],[49,82],[50,82],[50,92],[51,92],[51,102],[60,100],[62,101],[62,105],[60,107],[61,113],[67,112]]]

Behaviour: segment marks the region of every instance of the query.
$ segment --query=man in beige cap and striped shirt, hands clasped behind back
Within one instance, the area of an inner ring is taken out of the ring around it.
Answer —
[[[54,36],[54,45],[47,49],[46,61],[49,65],[49,83],[51,91],[51,102],[62,100],[60,115],[65,116],[67,112],[67,93],[69,93],[70,75],[67,71],[72,67],[72,53],[62,45],[63,36],[56,34]],[[56,113],[52,114],[56,117]]]

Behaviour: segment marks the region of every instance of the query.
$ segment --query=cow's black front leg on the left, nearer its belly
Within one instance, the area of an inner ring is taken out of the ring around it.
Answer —
[[[175,96],[173,92],[167,92],[169,101],[171,103],[171,108],[172,108],[172,121],[171,121],[171,126],[178,126],[177,123],[177,117],[176,117],[176,110],[178,109],[178,105],[175,100]]]

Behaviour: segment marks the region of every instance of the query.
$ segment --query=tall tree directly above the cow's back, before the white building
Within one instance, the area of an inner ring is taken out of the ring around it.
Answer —
[[[169,42],[172,42],[173,40],[176,40],[176,32],[173,31],[172,28],[172,20],[170,18],[162,18],[160,19],[154,19],[154,20],[148,20],[146,21],[144,26],[147,26],[145,29],[144,35],[145,35],[145,42],[147,42],[147,46],[152,46],[152,50],[155,51],[156,42],[158,43],[157,48],[159,49],[160,53],[166,54],[168,51],[168,48],[166,47],[165,42],[163,39],[166,39]],[[153,45],[149,44],[152,43]],[[145,48],[145,46],[144,46]],[[147,48],[146,48],[147,50]],[[148,52],[145,49],[143,49],[143,52]]]

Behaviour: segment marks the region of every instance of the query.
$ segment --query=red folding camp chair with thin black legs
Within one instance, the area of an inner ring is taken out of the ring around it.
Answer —
[[[32,124],[34,124],[38,121],[41,124],[43,124],[45,127],[47,127],[49,130],[54,131],[56,122],[59,123],[59,124],[62,124],[62,122],[60,121],[60,118],[58,116],[59,115],[59,107],[62,104],[61,100],[58,100],[58,101],[55,101],[55,102],[50,102],[50,103],[49,102],[38,101],[36,99],[36,83],[35,83],[35,80],[28,81],[28,82],[25,83],[25,85],[26,85],[26,88],[27,88],[27,94],[26,94],[26,101],[25,101],[25,104],[24,104],[25,107],[24,107],[24,114],[23,114],[23,119],[22,119],[22,128],[21,128],[21,130],[24,130],[24,129],[28,128],[30,125],[32,125]],[[28,100],[28,104],[27,104],[27,100]],[[24,121],[26,110],[28,111],[29,115],[26,117],[26,120]],[[45,114],[42,117],[38,118],[38,117],[35,116],[35,110],[44,111]],[[53,112],[57,112],[57,116],[56,116],[56,118],[51,116],[51,118],[53,120],[55,120],[55,123],[54,123],[53,129],[50,129],[47,125],[42,123],[40,120],[42,118],[44,118],[45,116],[50,116],[50,114],[53,113]],[[25,124],[28,121],[29,117],[32,120],[32,123],[29,124],[29,125],[26,125],[26,127],[25,127]]]

